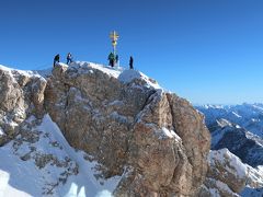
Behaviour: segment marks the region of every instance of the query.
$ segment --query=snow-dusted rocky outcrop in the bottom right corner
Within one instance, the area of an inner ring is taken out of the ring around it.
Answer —
[[[236,197],[240,196],[243,189],[248,193],[263,186],[263,171],[243,164],[228,149],[210,151],[208,164],[207,177],[199,190],[199,197]]]

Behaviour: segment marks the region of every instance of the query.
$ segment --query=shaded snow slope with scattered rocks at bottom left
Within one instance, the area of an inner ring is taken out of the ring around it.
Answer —
[[[26,119],[28,124],[35,121],[34,116]],[[52,196],[112,196],[122,176],[96,179],[98,163],[85,160],[84,152],[71,148],[49,115],[30,130],[39,136],[37,141],[12,140],[0,149],[0,196],[43,196],[49,188]],[[20,139],[18,136],[16,140]],[[52,155],[60,165],[48,162],[36,166],[35,157],[41,155]],[[72,174],[76,166],[78,174]],[[60,178],[66,178],[65,183]]]

